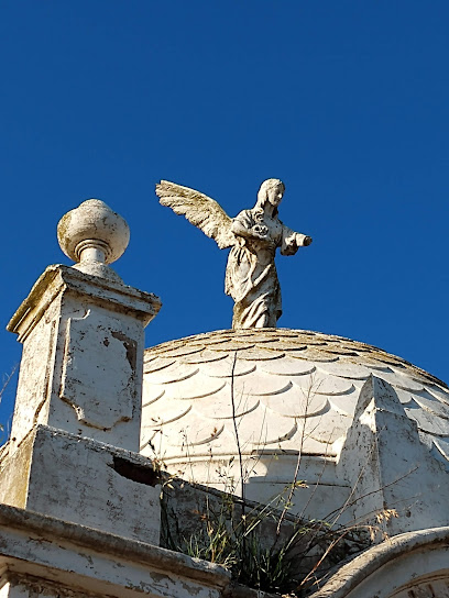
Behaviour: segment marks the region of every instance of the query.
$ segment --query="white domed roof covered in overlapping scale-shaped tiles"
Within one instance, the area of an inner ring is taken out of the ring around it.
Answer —
[[[338,456],[360,390],[390,383],[421,441],[449,459],[449,388],[374,346],[317,332],[198,334],[147,348],[142,453],[176,463],[271,450]],[[232,400],[233,397],[233,400]]]

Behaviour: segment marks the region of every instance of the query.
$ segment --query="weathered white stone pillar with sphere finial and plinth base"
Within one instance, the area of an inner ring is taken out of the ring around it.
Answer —
[[[144,328],[161,301],[109,264],[127,222],[85,201],[59,222],[73,267],[50,266],[8,325],[23,343],[0,500],[158,543],[158,480],[139,455]]]

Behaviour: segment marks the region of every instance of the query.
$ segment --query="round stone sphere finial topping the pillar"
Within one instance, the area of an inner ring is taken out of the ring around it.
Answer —
[[[107,266],[124,253],[130,241],[127,221],[99,199],[88,199],[70,210],[57,225],[59,246],[85,274],[121,281]]]

